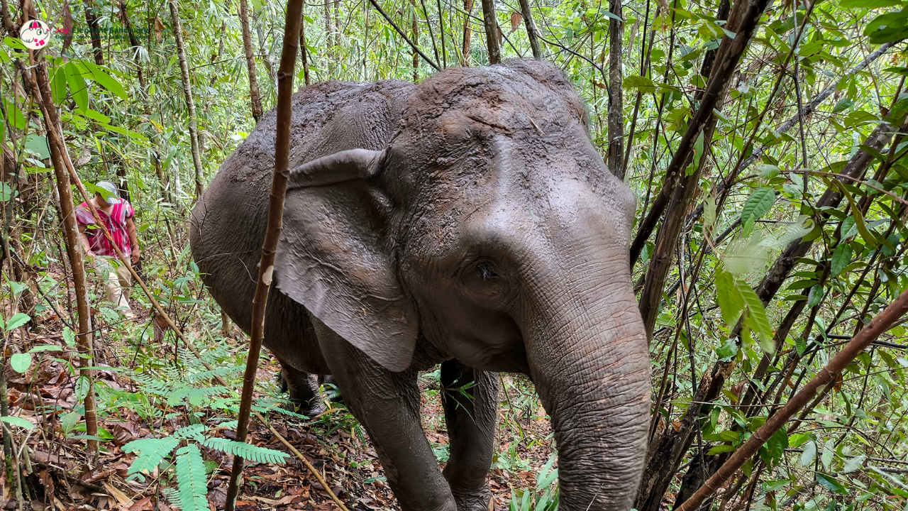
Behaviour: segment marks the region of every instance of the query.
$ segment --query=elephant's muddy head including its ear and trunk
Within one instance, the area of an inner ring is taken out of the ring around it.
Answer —
[[[528,374],[556,433],[560,506],[627,510],[649,406],[634,212],[558,70],[449,69],[415,88],[385,151],[294,169],[278,286],[391,370],[424,336]]]

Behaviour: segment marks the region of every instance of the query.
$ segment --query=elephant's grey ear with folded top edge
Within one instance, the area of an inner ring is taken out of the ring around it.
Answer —
[[[387,239],[390,205],[370,177],[382,152],[352,149],[291,171],[275,282],[391,371],[410,366],[417,315]]]

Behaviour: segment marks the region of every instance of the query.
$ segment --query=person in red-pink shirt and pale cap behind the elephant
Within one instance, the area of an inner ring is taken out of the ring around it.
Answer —
[[[117,248],[132,260],[133,265],[138,263],[142,251],[133,221],[133,206],[120,198],[119,190],[110,181],[101,181],[96,186],[100,191],[94,194],[92,203],[97,208],[98,215],[114,238]],[[75,209],[75,219],[79,225],[79,240],[91,266],[94,266],[95,277],[104,285],[107,300],[117,306],[127,319],[134,319],[135,313],[129,305],[130,286],[133,284],[129,268],[123,265],[114,251],[114,245],[96,225],[87,203],[82,203]]]

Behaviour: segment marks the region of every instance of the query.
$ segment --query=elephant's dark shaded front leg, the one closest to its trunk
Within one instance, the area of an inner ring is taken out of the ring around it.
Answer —
[[[458,511],[484,511],[491,492],[486,481],[495,451],[498,426],[498,379],[495,373],[441,363],[441,402],[450,439],[444,476]]]

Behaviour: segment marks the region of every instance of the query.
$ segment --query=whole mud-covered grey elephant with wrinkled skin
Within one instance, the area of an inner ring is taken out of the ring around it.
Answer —
[[[495,372],[528,375],[552,417],[560,506],[631,507],[646,450],[649,362],[631,290],[634,200],[549,65],[453,68],[420,85],[306,87],[265,346],[317,412],[331,374],[407,510],[484,510]],[[192,214],[192,256],[249,330],[275,114]],[[419,424],[417,373],[441,363],[450,460]],[[475,383],[472,398],[457,390]]]

